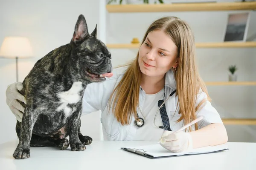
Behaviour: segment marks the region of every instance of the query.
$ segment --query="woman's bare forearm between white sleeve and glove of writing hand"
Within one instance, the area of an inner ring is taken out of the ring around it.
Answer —
[[[227,142],[227,131],[222,123],[209,124],[199,130],[189,132],[193,148],[214,146]]]

